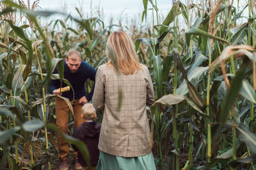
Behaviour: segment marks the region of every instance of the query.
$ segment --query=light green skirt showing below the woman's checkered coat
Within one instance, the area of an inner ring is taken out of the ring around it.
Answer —
[[[155,170],[152,152],[141,157],[118,157],[100,151],[97,170]]]

